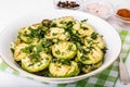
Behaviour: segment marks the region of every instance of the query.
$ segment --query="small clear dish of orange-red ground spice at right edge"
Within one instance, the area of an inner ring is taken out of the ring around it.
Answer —
[[[130,9],[128,8],[117,9],[116,18],[119,24],[130,26]]]

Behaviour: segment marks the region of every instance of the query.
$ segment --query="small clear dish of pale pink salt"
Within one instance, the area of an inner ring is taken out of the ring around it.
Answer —
[[[92,13],[96,16],[100,16],[104,20],[107,20],[113,15],[113,7],[109,2],[103,1],[89,1],[84,3],[84,12]]]

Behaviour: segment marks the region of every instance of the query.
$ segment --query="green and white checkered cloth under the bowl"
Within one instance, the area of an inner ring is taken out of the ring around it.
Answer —
[[[130,52],[130,30],[121,30],[120,33],[121,41],[122,41],[122,50],[120,58],[126,61],[126,58],[128,57],[128,53]],[[14,75],[20,75],[17,72],[10,69],[2,60],[0,60],[0,70],[4,72],[9,72]],[[102,73],[76,82],[72,84],[58,84],[58,85],[52,85],[43,83],[43,87],[114,87],[117,78],[118,78],[118,59],[110,65],[108,69],[103,71]],[[27,77],[29,79],[34,79],[30,77]]]

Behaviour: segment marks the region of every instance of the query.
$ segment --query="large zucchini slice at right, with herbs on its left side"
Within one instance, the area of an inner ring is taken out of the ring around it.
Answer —
[[[78,51],[77,57],[83,64],[94,64],[103,60],[104,53],[99,47],[86,47],[82,50],[84,52]]]

